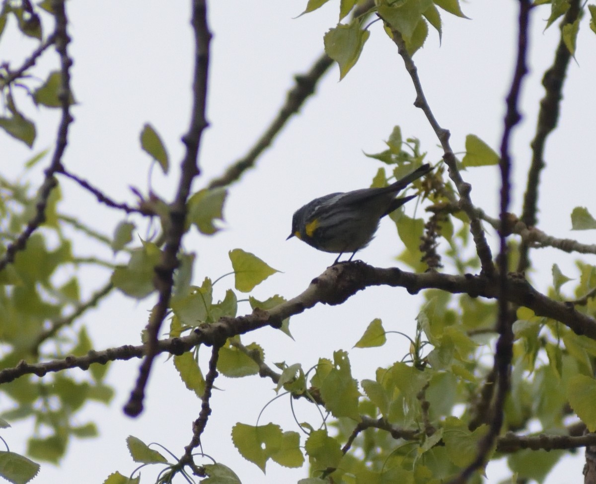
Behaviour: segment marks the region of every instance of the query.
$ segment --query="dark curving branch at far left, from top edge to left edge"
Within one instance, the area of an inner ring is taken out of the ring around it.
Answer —
[[[70,37],[66,31],[68,25],[68,18],[66,17],[66,10],[64,7],[64,0],[52,0],[52,8],[54,10],[54,17],[56,19],[56,27],[52,34],[56,51],[60,57],[60,73],[61,84],[58,91],[58,100],[60,101],[60,108],[62,116],[60,124],[58,125],[58,134],[56,137],[56,147],[51,163],[44,171],[44,182],[39,187],[38,197],[35,204],[35,215],[30,219],[27,227],[17,237],[17,239],[8,244],[6,253],[0,259],[0,271],[2,271],[8,264],[14,262],[14,257],[17,252],[23,250],[27,245],[27,240],[38,229],[38,227],[45,222],[45,209],[48,204],[48,198],[52,189],[58,184],[54,174],[61,169],[61,159],[68,144],[68,132],[70,123],[73,118],[70,115],[70,66],[72,60],[69,57],[67,48],[70,42]],[[35,63],[35,59],[33,60]]]

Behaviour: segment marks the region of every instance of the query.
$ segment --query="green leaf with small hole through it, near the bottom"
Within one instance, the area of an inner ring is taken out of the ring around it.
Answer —
[[[265,473],[265,464],[280,451],[283,441],[281,427],[267,424],[253,427],[237,423],[232,428],[232,442],[240,455],[259,466]]]

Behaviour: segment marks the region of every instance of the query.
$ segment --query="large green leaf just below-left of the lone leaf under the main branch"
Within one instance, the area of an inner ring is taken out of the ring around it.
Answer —
[[[317,367],[318,371],[318,367]],[[321,398],[335,417],[350,417],[360,421],[358,412],[358,383],[352,378],[352,370],[347,352],[333,353],[333,367],[319,384]]]

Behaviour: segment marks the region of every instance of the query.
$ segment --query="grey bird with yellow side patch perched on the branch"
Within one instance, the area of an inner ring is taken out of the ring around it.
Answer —
[[[358,250],[373,240],[381,218],[416,197],[396,198],[398,191],[430,170],[432,167],[426,163],[388,187],[315,198],[294,213],[288,239],[298,237],[315,249],[339,253],[334,263],[344,252],[352,252],[348,259],[352,260]]]

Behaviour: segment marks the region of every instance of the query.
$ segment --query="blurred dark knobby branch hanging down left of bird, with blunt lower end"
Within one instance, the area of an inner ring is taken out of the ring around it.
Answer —
[[[154,284],[159,293],[156,306],[151,311],[147,324],[147,343],[145,358],[139,368],[139,376],[124,411],[131,417],[142,412],[145,386],[149,378],[153,360],[158,353],[158,337],[163,319],[172,296],[173,272],[178,267],[178,250],[184,235],[184,224],[187,215],[187,200],[193,179],[200,173],[197,163],[198,148],[201,135],[208,123],[206,119],[207,80],[209,78],[209,44],[211,33],[207,24],[206,0],[193,0],[191,19],[195,39],[195,64],[193,78],[193,110],[187,134],[182,136],[186,145],[182,160],[181,176],[175,200],[170,205],[170,224],[166,232],[166,244],[162,251],[162,260],[155,267]]]

